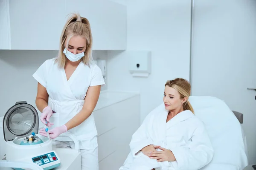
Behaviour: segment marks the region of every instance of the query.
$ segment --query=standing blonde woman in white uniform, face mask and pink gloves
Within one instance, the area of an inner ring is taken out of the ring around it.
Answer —
[[[90,23],[79,14],[72,14],[61,34],[58,57],[46,60],[33,74],[38,81],[36,106],[42,112],[41,121],[51,129],[48,132],[52,139],[67,131],[76,136],[82,170],[99,169],[92,112],[105,82],[100,68],[91,62],[91,52]],[[50,117],[54,122],[49,122]],[[47,136],[45,129],[39,132]],[[73,147],[74,143],[55,141],[55,145]]]

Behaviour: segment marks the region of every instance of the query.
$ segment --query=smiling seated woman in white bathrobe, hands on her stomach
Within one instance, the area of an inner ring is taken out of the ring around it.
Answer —
[[[213,148],[188,101],[190,91],[185,79],[166,82],[163,108],[151,111],[133,134],[119,170],[198,170],[209,164]]]

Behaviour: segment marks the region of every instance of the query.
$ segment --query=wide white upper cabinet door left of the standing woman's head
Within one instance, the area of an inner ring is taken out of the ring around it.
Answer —
[[[12,49],[59,49],[65,1],[10,0],[9,14]]]

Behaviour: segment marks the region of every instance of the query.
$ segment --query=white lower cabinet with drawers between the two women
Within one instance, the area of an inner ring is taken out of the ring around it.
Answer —
[[[109,97],[100,96],[97,105],[117,98],[108,94]],[[118,170],[122,166],[130,152],[131,136],[140,126],[140,95],[118,100],[93,111],[98,131],[99,170]]]

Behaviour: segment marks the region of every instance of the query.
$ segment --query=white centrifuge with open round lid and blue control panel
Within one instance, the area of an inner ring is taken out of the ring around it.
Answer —
[[[1,170],[81,170],[79,142],[65,133],[57,140],[74,141],[75,148],[53,148],[52,139],[38,134],[38,112],[26,101],[16,102],[2,119],[6,155],[0,161]]]

